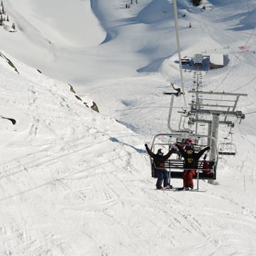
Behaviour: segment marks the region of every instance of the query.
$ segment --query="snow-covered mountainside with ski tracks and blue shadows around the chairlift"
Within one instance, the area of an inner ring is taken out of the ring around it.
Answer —
[[[169,132],[163,92],[181,86],[174,8],[128,2],[3,1],[0,255],[255,255],[255,1],[178,1],[181,55],[228,58],[202,70],[203,90],[248,94],[232,119],[238,154],[200,181],[206,193],[150,189],[144,144]],[[192,67],[183,80],[191,90]]]

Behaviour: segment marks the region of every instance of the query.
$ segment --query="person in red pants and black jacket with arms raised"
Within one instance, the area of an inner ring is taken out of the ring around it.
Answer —
[[[183,156],[183,159],[185,160],[184,163],[184,171],[183,171],[183,188],[184,189],[193,189],[193,176],[196,175],[196,169],[198,169],[198,160],[203,155],[203,153],[209,149],[213,149],[211,146],[207,146],[205,149],[202,149],[198,153],[195,153],[193,150],[193,146],[186,146],[185,150],[178,145],[177,143],[174,143],[174,145],[177,147],[178,151],[181,153],[181,156]]]

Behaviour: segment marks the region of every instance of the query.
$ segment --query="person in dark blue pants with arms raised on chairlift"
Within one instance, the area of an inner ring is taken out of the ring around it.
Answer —
[[[145,144],[146,151],[148,152],[149,156],[154,160],[154,166],[156,168],[161,168],[161,169],[154,169],[154,174],[157,176],[157,181],[156,181],[156,188],[161,189],[163,188],[161,186],[162,182],[164,181],[164,188],[170,188],[169,186],[169,172],[165,169],[164,161],[169,159],[171,154],[173,153],[173,149],[171,149],[168,154],[164,155],[164,153],[159,149],[157,151],[157,154],[154,154],[150,149],[147,144]]]

